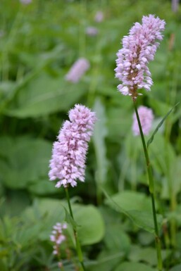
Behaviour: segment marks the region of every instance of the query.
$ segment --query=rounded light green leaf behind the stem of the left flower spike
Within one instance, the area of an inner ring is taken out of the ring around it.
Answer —
[[[92,206],[71,204],[73,216],[77,224],[77,232],[82,245],[95,244],[104,237],[104,221],[99,210]],[[33,207],[27,208],[23,217],[30,221],[41,221],[44,218],[44,228],[39,237],[49,239],[49,234],[56,222],[65,221],[65,208],[68,205],[65,201],[43,198],[37,199]]]

